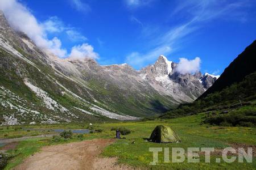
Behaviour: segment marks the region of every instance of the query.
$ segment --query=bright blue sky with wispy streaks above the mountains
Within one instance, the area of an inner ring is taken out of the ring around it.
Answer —
[[[200,57],[203,73],[221,74],[256,38],[254,0],[8,1],[34,16],[45,39],[57,37],[61,57],[83,50],[101,65],[140,69],[163,54],[174,62]]]

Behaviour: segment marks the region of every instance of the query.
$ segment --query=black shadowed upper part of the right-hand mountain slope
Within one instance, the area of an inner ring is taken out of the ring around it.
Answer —
[[[221,91],[225,87],[235,82],[241,82],[246,75],[256,71],[256,40],[240,54],[221,74],[212,87],[202,96],[207,96],[216,91]]]

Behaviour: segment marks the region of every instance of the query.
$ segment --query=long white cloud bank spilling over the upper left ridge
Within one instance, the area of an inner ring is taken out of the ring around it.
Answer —
[[[61,58],[70,55],[67,53],[67,49],[61,48],[60,39],[53,37],[52,40],[49,40],[47,37],[48,33],[61,33],[65,31],[67,35],[73,39],[77,39],[79,36],[80,40],[86,40],[86,37],[80,35],[75,28],[65,27],[64,23],[56,16],[49,18],[46,22],[39,23],[35,16],[31,14],[30,10],[17,0],[0,0],[0,10],[5,14],[11,27],[17,31],[26,33],[39,48],[49,50]],[[84,47],[84,44],[81,46]],[[90,45],[87,44],[87,46]],[[78,46],[74,46],[73,48],[76,49],[77,47]],[[93,48],[89,49],[93,50]],[[95,55],[89,55],[94,53],[90,50],[88,56],[95,58]],[[72,55],[74,54],[75,53]]]

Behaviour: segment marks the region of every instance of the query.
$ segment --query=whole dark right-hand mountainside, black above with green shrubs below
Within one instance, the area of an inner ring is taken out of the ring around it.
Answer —
[[[212,91],[206,91],[193,103],[181,104],[177,109],[160,117],[174,118],[206,112],[204,123],[221,126],[256,126],[256,67],[255,63],[253,64],[256,58],[255,47],[254,41],[234,59],[221,75],[222,78],[213,84]],[[245,71],[241,70],[241,66],[247,67]],[[233,77],[230,72],[232,70],[237,78]],[[238,73],[237,70],[242,73]]]

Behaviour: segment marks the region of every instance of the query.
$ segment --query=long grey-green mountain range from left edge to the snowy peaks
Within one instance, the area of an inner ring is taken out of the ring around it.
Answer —
[[[196,100],[217,79],[180,74],[176,66],[164,56],[139,71],[127,64],[61,59],[14,31],[0,12],[0,121],[137,120]]]

